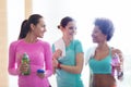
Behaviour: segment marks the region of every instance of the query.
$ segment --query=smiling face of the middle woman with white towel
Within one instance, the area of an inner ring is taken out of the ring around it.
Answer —
[[[66,27],[62,27],[63,36],[70,40],[73,40],[74,35],[76,34],[76,25],[74,21],[71,21],[67,24]]]

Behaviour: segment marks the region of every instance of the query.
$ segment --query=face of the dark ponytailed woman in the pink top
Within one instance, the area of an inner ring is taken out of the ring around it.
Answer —
[[[44,37],[44,33],[46,32],[46,25],[45,22],[41,18],[39,18],[38,23],[36,25],[32,25],[32,32],[36,37],[43,38]]]

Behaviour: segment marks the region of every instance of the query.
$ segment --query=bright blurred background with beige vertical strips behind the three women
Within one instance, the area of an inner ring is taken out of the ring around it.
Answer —
[[[17,87],[17,76],[8,74],[10,42],[17,40],[21,23],[31,14],[44,16],[47,33],[43,40],[50,45],[61,37],[57,28],[60,20],[71,16],[76,21],[76,39],[82,41],[84,52],[93,47],[91,33],[96,17],[107,17],[115,24],[115,35],[109,45],[119,48],[124,57],[124,79],[119,87],[131,86],[131,5],[130,0],[0,0],[0,87]],[[82,73],[84,86],[88,87],[88,66]],[[56,77],[49,77],[52,87]]]

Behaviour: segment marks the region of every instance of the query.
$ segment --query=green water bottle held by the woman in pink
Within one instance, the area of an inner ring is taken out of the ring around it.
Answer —
[[[25,63],[28,64],[28,70],[26,72],[22,72],[22,75],[29,75],[31,73],[29,57],[26,52],[23,54],[23,58],[22,58],[22,64],[25,64]]]

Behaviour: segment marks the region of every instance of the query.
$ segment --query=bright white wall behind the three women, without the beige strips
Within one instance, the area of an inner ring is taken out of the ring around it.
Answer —
[[[67,15],[72,16],[78,23],[76,39],[83,44],[84,50],[93,46],[91,33],[95,17],[108,17],[112,20],[116,32],[109,45],[122,50],[124,54],[124,80],[120,87],[130,87],[131,83],[131,37],[130,34],[130,0],[33,0],[33,13],[39,13],[45,17],[47,33],[44,40],[52,44],[60,36],[61,32],[57,28],[60,20]],[[17,39],[20,25],[24,17],[23,0],[8,0],[9,16],[9,42]],[[19,8],[17,8],[19,7]],[[14,30],[16,33],[14,33]],[[14,77],[10,76],[10,79]],[[16,78],[16,77],[15,77]],[[84,67],[83,82],[88,87],[88,69]],[[50,78],[52,87],[56,87],[55,76]],[[16,80],[10,80],[10,86],[16,84]],[[16,87],[13,86],[13,87]]]

